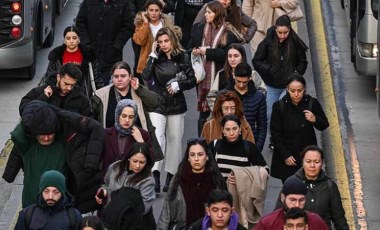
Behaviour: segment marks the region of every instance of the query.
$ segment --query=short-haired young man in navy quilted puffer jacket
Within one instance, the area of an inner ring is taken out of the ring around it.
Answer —
[[[265,94],[255,86],[252,80],[252,68],[248,63],[242,62],[235,67],[234,80],[230,81],[226,90],[235,91],[243,104],[244,116],[252,128],[255,144],[263,151],[267,135],[267,102]],[[256,76],[255,79],[258,77]],[[262,81],[261,81],[262,82]]]

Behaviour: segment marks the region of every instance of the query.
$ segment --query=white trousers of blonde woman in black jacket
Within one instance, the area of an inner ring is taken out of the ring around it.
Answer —
[[[156,127],[156,137],[165,156],[165,171],[174,175],[182,160],[182,138],[185,126],[185,113],[162,115],[149,113],[150,120]],[[156,162],[152,171],[161,171],[163,161]]]

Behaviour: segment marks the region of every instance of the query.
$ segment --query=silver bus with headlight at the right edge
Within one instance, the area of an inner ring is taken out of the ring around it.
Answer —
[[[376,76],[377,17],[379,0],[341,0],[351,42],[351,61],[356,72]]]

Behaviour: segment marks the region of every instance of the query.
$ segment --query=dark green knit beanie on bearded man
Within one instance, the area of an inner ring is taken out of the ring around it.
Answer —
[[[64,194],[66,193],[66,177],[56,170],[46,171],[41,176],[40,192],[46,187],[55,187]]]

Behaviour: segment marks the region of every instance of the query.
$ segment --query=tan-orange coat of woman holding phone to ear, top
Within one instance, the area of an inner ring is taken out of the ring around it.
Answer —
[[[141,46],[139,62],[136,72],[141,74],[145,68],[148,56],[152,52],[152,45],[154,42],[153,34],[150,30],[149,23],[145,23],[143,20],[143,13],[139,12],[135,18],[135,33],[133,34],[133,41]],[[161,21],[163,26],[173,26],[173,21],[169,15],[162,14]]]

